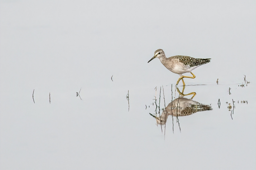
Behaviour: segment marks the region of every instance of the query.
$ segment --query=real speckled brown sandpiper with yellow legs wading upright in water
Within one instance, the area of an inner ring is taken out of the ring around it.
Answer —
[[[179,84],[180,79],[183,82],[183,85],[185,85],[183,78],[195,78],[196,76],[191,72],[196,67],[199,67],[200,65],[206,64],[210,62],[211,58],[193,58],[189,56],[183,56],[183,55],[176,55],[169,58],[165,57],[164,50],[158,49],[155,51],[154,57],[152,57],[148,63],[153,60],[154,58],[159,58],[161,63],[170,71],[173,73],[179,74],[180,78],[178,79],[176,85]],[[182,76],[184,73],[190,72],[193,77],[189,76]]]

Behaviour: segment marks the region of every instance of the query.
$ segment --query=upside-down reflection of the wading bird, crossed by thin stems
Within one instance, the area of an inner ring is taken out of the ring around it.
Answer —
[[[184,96],[189,94],[194,94],[195,92],[189,93],[189,94],[183,94],[184,88],[182,90],[182,93],[177,88],[178,92],[180,93],[180,97],[172,100],[171,103],[168,104],[168,106],[164,109],[162,112],[162,115],[160,117],[156,117],[155,115],[150,114],[154,118],[156,118],[157,124],[165,124],[167,121],[167,118],[169,115],[172,116],[188,116],[192,115],[196,112],[206,111],[206,110],[212,110],[212,107],[209,105],[203,105],[200,104],[197,101],[194,101],[191,99],[184,98]]]

